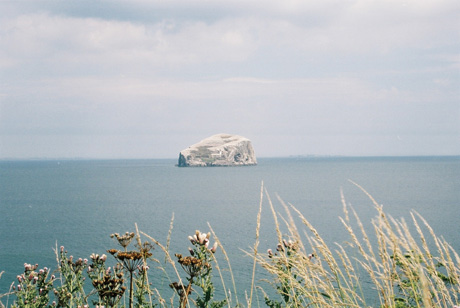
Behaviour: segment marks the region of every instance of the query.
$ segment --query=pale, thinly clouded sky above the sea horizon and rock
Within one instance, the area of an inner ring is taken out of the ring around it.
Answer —
[[[460,155],[458,0],[0,1],[0,159]]]

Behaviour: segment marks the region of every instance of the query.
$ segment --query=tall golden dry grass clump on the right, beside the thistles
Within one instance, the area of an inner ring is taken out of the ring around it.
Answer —
[[[267,254],[255,254],[255,258],[274,277],[272,286],[278,296],[269,296],[262,290],[268,307],[458,305],[460,258],[455,250],[436,236],[416,212],[411,214],[414,234],[404,220],[386,215],[382,206],[362,190],[369,196],[377,213],[372,220],[377,240],[374,245],[343,194],[344,217],[340,220],[351,241],[347,246],[337,243],[330,246],[294,206],[280,200],[288,218],[276,213],[266,193],[278,234],[277,249],[276,252],[269,250]],[[350,219],[349,211],[354,220]],[[304,236],[300,236],[292,214],[298,216],[305,227]],[[279,220],[284,221],[287,228],[284,236]],[[357,225],[357,229],[353,225]],[[422,226],[428,230],[430,238],[422,231]],[[429,247],[428,240],[434,242],[435,251]],[[373,290],[363,291],[364,278],[370,279]]]

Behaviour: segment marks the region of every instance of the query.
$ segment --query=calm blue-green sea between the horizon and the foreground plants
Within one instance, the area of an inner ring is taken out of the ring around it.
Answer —
[[[24,263],[55,270],[56,248],[89,259],[119,248],[111,234],[137,227],[142,241],[154,238],[173,260],[175,253],[188,254],[188,236],[195,230],[212,231],[211,245],[217,236],[225,248],[215,254],[225,287],[244,301],[256,231],[259,252],[278,244],[270,204],[282,232],[287,233],[284,204],[297,208],[328,244],[343,244],[349,237],[339,220],[342,193],[365,228],[372,230],[377,215],[354,183],[409,225],[416,211],[460,251],[460,156],[259,158],[258,165],[247,167],[176,164],[176,159],[0,161],[0,294],[9,291]],[[293,216],[297,228],[306,230]],[[153,257],[152,286],[170,292],[176,274],[159,246]],[[270,279],[257,268],[256,285]],[[219,278],[216,289],[220,283]]]

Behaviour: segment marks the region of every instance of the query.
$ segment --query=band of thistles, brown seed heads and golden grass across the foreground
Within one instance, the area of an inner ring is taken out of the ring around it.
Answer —
[[[57,270],[24,264],[24,272],[0,295],[0,307],[458,307],[458,253],[417,213],[411,213],[407,224],[387,216],[368,196],[377,213],[372,234],[342,196],[340,220],[350,240],[331,245],[294,206],[280,200],[285,212],[276,212],[262,187],[255,244],[246,252],[254,262],[252,284],[243,301],[238,300],[226,251],[211,227],[211,232],[196,231],[188,237],[191,247],[184,256],[170,253],[170,236],[163,245],[135,226],[136,232],[111,235],[118,248],[89,259],[75,259],[64,247],[56,247]],[[276,249],[259,252],[264,197],[278,238]],[[297,228],[294,217],[304,230]],[[154,258],[154,247],[165,262]],[[224,279],[216,253],[224,256],[229,279]],[[170,298],[149,282],[151,266],[168,277]],[[270,277],[268,283],[257,278],[261,271]],[[229,281],[232,291],[226,287]]]

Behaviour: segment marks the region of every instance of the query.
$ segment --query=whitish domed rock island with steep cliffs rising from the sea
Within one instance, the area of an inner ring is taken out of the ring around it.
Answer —
[[[179,153],[179,167],[250,165],[257,165],[251,141],[237,135],[214,135]]]

